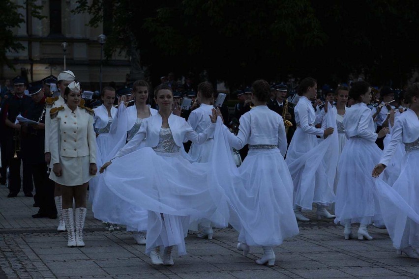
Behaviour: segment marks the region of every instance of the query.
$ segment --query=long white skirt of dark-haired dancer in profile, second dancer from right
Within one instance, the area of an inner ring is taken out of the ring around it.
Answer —
[[[371,175],[381,154],[382,150],[375,142],[356,137],[346,142],[338,166],[335,223],[344,223],[347,219],[363,224],[382,220]]]

